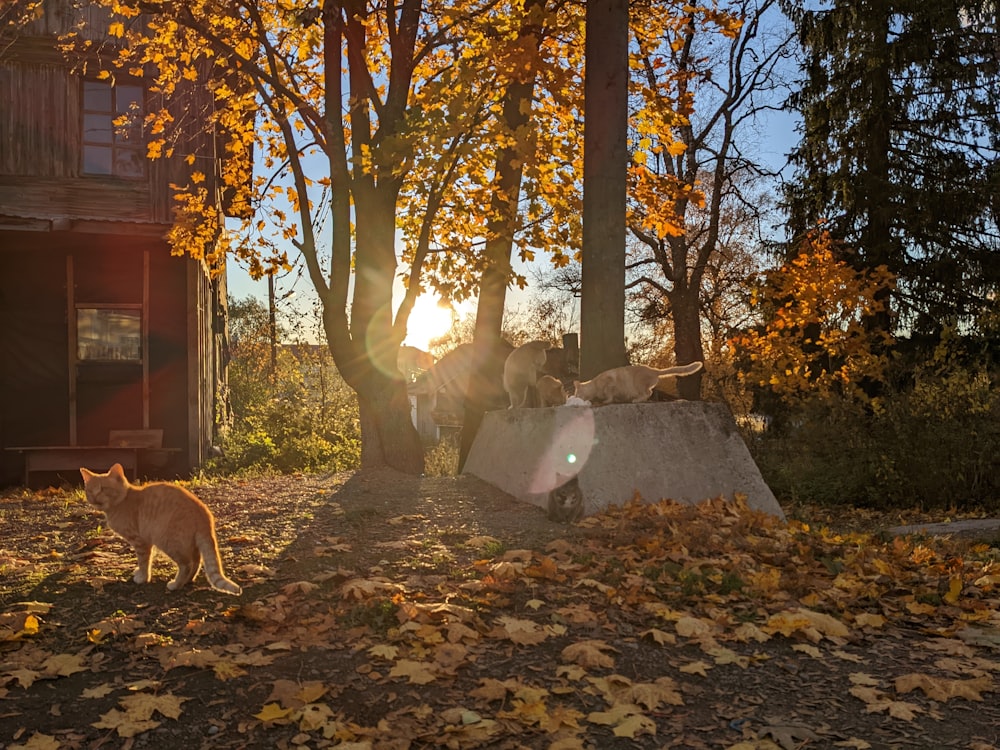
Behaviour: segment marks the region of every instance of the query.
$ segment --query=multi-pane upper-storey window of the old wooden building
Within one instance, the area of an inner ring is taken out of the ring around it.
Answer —
[[[142,86],[83,82],[83,173],[130,179],[146,176]],[[129,122],[115,125],[127,115]]]

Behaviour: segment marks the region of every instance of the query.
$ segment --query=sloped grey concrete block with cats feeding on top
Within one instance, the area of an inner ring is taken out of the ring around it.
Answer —
[[[542,508],[558,474],[578,477],[586,514],[636,491],[692,504],[740,493],[784,518],[729,410],[705,401],[487,412],[465,472]]]

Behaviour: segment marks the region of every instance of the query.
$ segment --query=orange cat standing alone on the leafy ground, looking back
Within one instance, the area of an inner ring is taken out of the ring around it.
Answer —
[[[84,468],[80,474],[87,501],[104,511],[108,527],[124,537],[139,556],[133,581],[150,581],[155,548],[177,564],[177,575],[167,584],[171,591],[194,578],[204,562],[205,577],[212,588],[236,596],[243,592],[222,572],[212,511],[186,489],[166,482],[136,487],[125,478],[121,464],[106,474]]]

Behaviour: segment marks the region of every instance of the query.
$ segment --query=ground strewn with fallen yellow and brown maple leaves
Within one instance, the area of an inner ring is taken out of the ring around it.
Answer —
[[[0,747],[1000,747],[995,546],[721,500],[566,527],[469,477],[194,489],[238,599],[132,583],[79,493],[0,496]]]

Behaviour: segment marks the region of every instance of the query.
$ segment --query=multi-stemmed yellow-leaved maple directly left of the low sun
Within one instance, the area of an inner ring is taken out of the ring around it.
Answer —
[[[223,140],[218,177],[247,218],[227,235],[231,247],[217,246],[222,218],[196,171],[175,186],[174,247],[214,263],[228,249],[255,276],[288,267],[294,247],[320,298],[334,361],[358,394],[362,464],[419,473],[397,350],[428,283],[461,299],[479,282],[471,240],[497,219],[475,207],[490,205],[486,176],[510,148],[500,117],[505,82],[533,65],[521,19],[539,24],[554,11],[486,0],[102,4],[120,40],[117,65],[145,74],[165,97],[191,82],[214,95],[213,111],[199,114]],[[549,58],[567,59],[562,51]],[[166,110],[146,126],[150,156],[183,149]],[[189,163],[203,156],[190,154]],[[562,173],[519,161],[540,184]],[[397,277],[406,291],[394,316]]]

